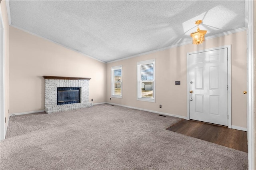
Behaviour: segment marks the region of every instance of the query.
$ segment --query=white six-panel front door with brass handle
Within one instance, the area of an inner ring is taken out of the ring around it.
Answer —
[[[228,126],[228,49],[189,55],[189,118]]]

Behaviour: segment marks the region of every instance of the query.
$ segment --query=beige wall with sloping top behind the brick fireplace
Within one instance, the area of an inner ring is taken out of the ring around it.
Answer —
[[[10,114],[44,110],[43,75],[91,77],[90,101],[105,102],[105,63],[10,26]]]

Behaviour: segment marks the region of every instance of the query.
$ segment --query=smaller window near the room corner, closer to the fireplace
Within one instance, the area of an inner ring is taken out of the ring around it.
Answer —
[[[111,97],[122,98],[122,65],[111,67]]]

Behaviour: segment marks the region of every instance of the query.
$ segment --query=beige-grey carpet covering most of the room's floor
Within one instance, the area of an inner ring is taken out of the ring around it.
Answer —
[[[248,169],[245,152],[165,129],[180,120],[107,104],[12,116],[0,169]]]

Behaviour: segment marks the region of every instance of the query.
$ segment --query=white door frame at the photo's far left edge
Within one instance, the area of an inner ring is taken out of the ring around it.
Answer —
[[[4,103],[4,22],[0,9],[0,140],[4,140],[6,133]]]

